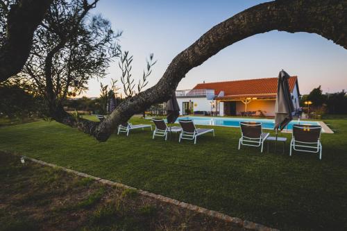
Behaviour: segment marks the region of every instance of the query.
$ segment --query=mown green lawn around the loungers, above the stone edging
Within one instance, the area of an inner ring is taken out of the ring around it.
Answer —
[[[150,123],[133,118],[132,123]],[[347,229],[347,120],[330,119],[317,154],[237,150],[239,128],[178,143],[149,130],[99,143],[56,122],[0,128],[0,150],[27,155],[282,230]],[[271,131],[272,132],[272,131]],[[290,139],[290,134],[281,134]],[[271,146],[273,148],[273,146]]]

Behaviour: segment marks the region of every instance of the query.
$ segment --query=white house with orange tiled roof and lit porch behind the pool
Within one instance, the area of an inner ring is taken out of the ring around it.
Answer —
[[[298,77],[288,80],[294,109],[299,106]],[[219,116],[275,115],[278,78],[257,78],[216,83],[199,83],[193,89],[176,91],[180,114]]]

